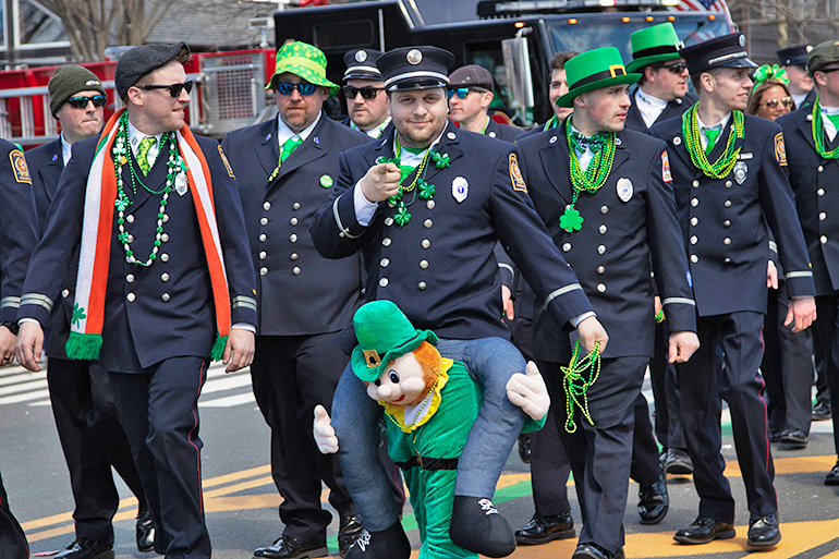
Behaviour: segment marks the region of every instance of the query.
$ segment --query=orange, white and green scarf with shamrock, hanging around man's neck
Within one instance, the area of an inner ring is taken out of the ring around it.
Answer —
[[[114,202],[117,200],[117,171],[111,156],[119,130],[122,109],[110,118],[96,146],[96,155],[87,177],[82,247],[76,299],[66,353],[74,360],[96,360],[102,347],[105,323],[105,291],[108,285],[108,267],[111,255]],[[212,345],[211,359],[218,361],[224,351],[230,332],[230,291],[228,289],[224,258],[221,254],[216,210],[212,202],[212,183],[209,166],[189,126],[177,133],[178,149],[183,157],[186,178],[192,189],[195,212],[209,266],[212,299],[216,306],[218,337]]]

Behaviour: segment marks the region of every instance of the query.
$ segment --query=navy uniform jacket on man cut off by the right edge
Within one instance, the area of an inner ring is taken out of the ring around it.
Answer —
[[[787,139],[790,184],[813,264],[816,294],[831,295],[839,291],[839,160],[823,159],[816,153],[812,110],[799,109],[776,122]],[[836,147],[839,135],[827,149]]]

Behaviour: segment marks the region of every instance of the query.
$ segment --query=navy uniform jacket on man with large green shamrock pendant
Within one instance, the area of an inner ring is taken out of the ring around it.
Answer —
[[[533,205],[609,332],[603,356],[652,357],[650,253],[668,325],[672,331],[696,330],[672,187],[665,182],[665,144],[640,132],[619,132],[609,178],[596,193],[580,194],[574,208],[584,219],[583,227],[569,233],[559,227],[560,216],[573,199],[566,125],[519,142]],[[534,325],[535,355],[555,363],[564,361],[569,355],[561,353],[568,345],[563,340],[539,313]]]

